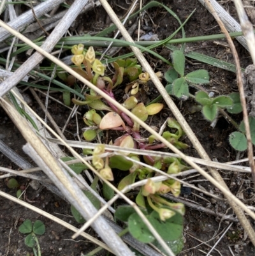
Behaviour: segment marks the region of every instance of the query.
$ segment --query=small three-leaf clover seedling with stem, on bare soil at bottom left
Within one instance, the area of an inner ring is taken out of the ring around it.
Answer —
[[[18,231],[22,234],[28,234],[25,237],[25,245],[33,248],[35,256],[41,256],[40,243],[36,235],[41,236],[45,233],[45,225],[43,222],[36,220],[33,224],[31,220],[25,220],[18,228]]]

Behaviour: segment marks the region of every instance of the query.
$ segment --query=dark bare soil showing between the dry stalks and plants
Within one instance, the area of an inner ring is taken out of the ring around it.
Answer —
[[[113,6],[113,9],[122,17],[124,13],[129,8],[129,4],[125,3],[126,1],[110,1]],[[130,1],[131,2],[131,1]],[[209,35],[209,34],[218,34],[221,33],[219,26],[215,22],[214,18],[210,13],[201,4],[196,0],[171,0],[171,1],[159,1],[166,4],[170,7],[177,15],[180,20],[184,21],[187,16],[196,9],[194,15],[191,17],[189,22],[185,26],[186,36],[200,36],[200,35]],[[235,8],[231,1],[222,1],[222,4],[228,11],[236,17]],[[151,8],[145,14],[145,18],[149,23],[148,26],[151,27],[151,31],[156,33],[159,36],[159,40],[163,40],[168,37],[171,33],[179,27],[177,21],[171,17],[163,8]],[[95,8],[85,15],[81,15],[77,19],[77,27],[82,27],[83,33],[89,31],[99,32],[100,29],[103,29],[109,26],[110,20],[108,15],[102,7]],[[78,26],[79,25],[79,26]],[[180,34],[177,35],[177,38],[180,37]],[[133,38],[136,39],[136,34],[133,34]],[[221,40],[223,43],[224,40]],[[238,55],[240,57],[240,64],[242,68],[245,68],[248,64],[251,64],[251,58],[249,53],[242,47],[238,41],[234,40],[235,46],[237,47]],[[189,49],[200,52],[208,56],[216,57],[224,61],[233,63],[233,57],[228,50],[228,48],[217,45],[213,41],[206,41],[203,43],[189,43],[187,44]],[[101,50],[101,49],[98,49]],[[165,49],[164,47],[159,47],[156,49],[159,54],[169,59],[170,50]],[[124,52],[128,52],[129,49],[124,49]],[[147,59],[152,63],[152,66],[157,71],[166,71],[168,69],[164,64],[154,60],[149,54],[145,54]],[[191,72],[196,69],[204,68],[210,73],[210,86],[215,88],[215,91],[218,94],[228,94],[233,91],[237,91],[237,83],[235,80],[235,73],[226,72],[219,68],[213,66],[208,66],[207,64],[199,63],[198,61],[193,61],[187,59],[186,71]],[[164,81],[163,81],[164,82]],[[164,82],[165,83],[165,82]],[[22,88],[22,87],[21,87]],[[150,93],[149,100],[153,100],[157,95],[156,91]],[[122,97],[122,91],[118,91]],[[29,93],[28,93],[29,94]],[[30,95],[31,97],[31,95]],[[61,94],[54,94],[55,98],[61,100]],[[31,97],[32,98],[32,97]],[[33,100],[33,98],[32,98]],[[41,96],[41,100],[44,100]],[[219,162],[229,162],[235,160],[237,152],[230,147],[228,143],[228,136],[233,131],[233,127],[229,124],[223,117],[219,118],[215,128],[210,126],[210,123],[203,119],[200,112],[195,114],[190,114],[189,108],[194,104],[192,100],[187,102],[180,103],[179,100],[175,100],[175,103],[182,111],[182,114],[189,121],[189,125],[193,128],[194,133],[205,147],[205,150],[209,154],[210,158],[217,158]],[[31,103],[34,110],[36,110],[41,116],[44,116],[41,111],[38,103],[33,101]],[[49,103],[49,111],[54,116],[56,123],[62,127],[69,115],[69,110],[64,109],[63,107],[57,105],[55,102]],[[82,109],[81,109],[82,111]],[[162,123],[166,117],[172,116],[170,110],[164,109],[160,116],[156,116],[152,120],[152,124],[158,125]],[[235,116],[235,120],[240,122],[242,116]],[[82,121],[80,123],[80,128],[82,128]],[[76,122],[71,120],[68,125],[66,137],[68,139],[75,139],[72,137],[72,134],[76,131]],[[114,136],[114,135],[112,135]],[[117,136],[117,135],[116,135]],[[22,152],[22,146],[25,144],[25,140],[22,138],[22,135],[18,132],[15,125],[11,122],[9,117],[4,113],[3,109],[0,109],[0,139],[3,140],[11,149],[15,150],[20,156],[23,156],[28,161],[31,161],[25,156]],[[185,139],[185,142],[190,145],[189,140]],[[190,147],[185,151],[189,156],[198,156],[193,147]],[[245,157],[245,154],[242,155]],[[8,167],[10,169],[18,170],[18,167],[11,163],[4,154],[0,153],[0,163],[2,167]],[[231,188],[231,192],[237,194],[242,192],[244,199],[251,199],[253,195],[253,188],[251,185],[251,177],[249,175],[238,175],[235,173],[221,171],[222,177],[225,179],[228,186]],[[27,179],[17,177],[20,184],[28,184]],[[203,177],[189,177],[188,181],[195,184],[196,186],[202,186],[207,191],[212,191],[214,193],[219,193],[213,186],[211,186],[208,181],[205,181]],[[0,188],[4,192],[15,195],[15,190],[10,190],[6,186],[6,180],[0,180]],[[200,195],[196,191],[192,191],[191,195],[182,195],[186,200],[191,200],[196,202],[200,206],[210,207],[215,212],[226,213],[228,215],[232,214],[232,210],[228,209],[228,204],[222,202],[214,202],[209,197],[205,195]],[[29,187],[27,188],[25,200],[30,202],[36,207],[40,207],[44,211],[51,213],[52,215],[58,216],[65,220],[66,222],[75,224],[75,220],[71,216],[69,209],[69,204],[54,195],[54,193],[49,192],[46,188],[43,188],[38,194],[36,190]],[[249,202],[252,205],[252,202]],[[33,211],[29,211],[18,204],[0,198],[0,255],[2,256],[14,256],[14,255],[25,255],[27,252],[31,253],[32,251],[24,245],[24,236],[18,232],[18,226],[25,220],[42,220],[46,226],[46,233],[43,236],[40,236],[40,245],[42,250],[42,255],[82,255],[94,248],[94,245],[85,239],[78,238],[77,240],[72,240],[72,232],[63,228],[61,225],[58,225],[52,220],[48,220]],[[208,246],[201,243],[208,241],[208,245],[214,245],[215,241],[219,238],[222,230],[226,229],[228,222],[221,222],[221,218],[208,215],[203,213],[203,211],[197,211],[186,207],[186,216],[185,216],[185,227],[184,227],[184,237],[185,237],[185,246],[184,252],[180,255],[205,255],[204,252],[208,252]],[[252,222],[252,220],[251,220]],[[253,224],[253,222],[252,222]],[[78,225],[77,225],[78,227]],[[89,234],[95,235],[94,231],[89,230]],[[233,223],[228,233],[221,239],[219,245],[217,245],[217,251],[211,253],[211,255],[222,255],[228,256],[231,255],[231,252],[228,248],[231,247],[233,255],[255,255],[255,249],[249,243],[249,238],[245,239],[245,234],[242,227],[238,223]],[[30,254],[32,255],[32,253]],[[106,252],[103,252],[99,255],[107,255]]]

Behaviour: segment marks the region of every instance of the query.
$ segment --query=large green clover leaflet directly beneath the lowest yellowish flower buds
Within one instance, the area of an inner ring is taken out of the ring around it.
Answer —
[[[164,208],[168,207],[164,206]],[[183,217],[180,213],[175,213],[173,217],[163,222],[160,220],[159,214],[156,211],[152,211],[148,219],[165,241],[175,241],[182,237]]]

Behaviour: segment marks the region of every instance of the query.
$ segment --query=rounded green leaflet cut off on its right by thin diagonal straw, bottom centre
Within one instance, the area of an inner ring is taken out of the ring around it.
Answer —
[[[154,241],[154,236],[137,213],[129,216],[128,229],[130,234],[142,243],[151,243]]]

